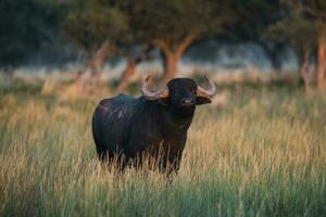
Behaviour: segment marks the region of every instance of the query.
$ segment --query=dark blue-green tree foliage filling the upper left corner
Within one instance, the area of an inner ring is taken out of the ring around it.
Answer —
[[[0,3],[0,67],[20,66],[51,40],[59,24],[58,9],[38,0],[2,0]]]

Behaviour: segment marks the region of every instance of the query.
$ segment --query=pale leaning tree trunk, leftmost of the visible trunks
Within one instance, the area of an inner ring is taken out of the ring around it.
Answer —
[[[110,42],[104,41],[101,47],[93,53],[90,60],[90,81],[98,82],[102,74],[102,66],[108,56]]]

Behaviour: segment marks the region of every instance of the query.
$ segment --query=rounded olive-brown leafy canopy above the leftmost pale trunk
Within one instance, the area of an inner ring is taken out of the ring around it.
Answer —
[[[128,28],[126,15],[109,1],[76,0],[70,7],[64,34],[87,51],[98,49],[105,40],[116,42]]]

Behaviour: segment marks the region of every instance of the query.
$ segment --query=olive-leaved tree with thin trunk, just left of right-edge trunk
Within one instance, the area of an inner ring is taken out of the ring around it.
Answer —
[[[305,90],[311,90],[313,69],[310,59],[317,44],[319,26],[314,22],[301,2],[284,3],[284,16],[266,28],[267,38],[284,41],[297,52],[299,73],[304,81]]]

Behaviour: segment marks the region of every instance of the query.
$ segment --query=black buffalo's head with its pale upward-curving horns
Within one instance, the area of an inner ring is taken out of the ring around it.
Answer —
[[[206,78],[206,77],[205,77]],[[208,79],[209,88],[203,89],[190,78],[175,78],[167,82],[166,87],[159,91],[151,91],[148,88],[148,76],[142,84],[142,94],[148,100],[164,102],[174,112],[187,114],[195,111],[196,105],[211,103],[215,94],[215,86]]]

